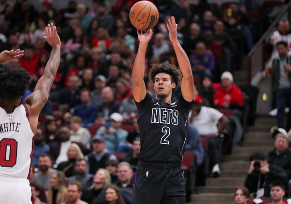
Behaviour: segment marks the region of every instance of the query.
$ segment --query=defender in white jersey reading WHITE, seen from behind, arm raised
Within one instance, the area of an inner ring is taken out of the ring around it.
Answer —
[[[30,75],[25,69],[0,65],[0,203],[32,204],[29,174],[33,136],[60,62],[61,41],[53,24],[46,27],[52,47],[43,76],[23,102]],[[16,55],[17,56],[17,55]],[[7,61],[5,61],[7,62]]]

